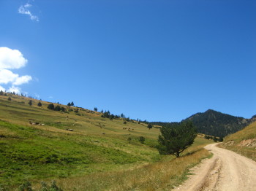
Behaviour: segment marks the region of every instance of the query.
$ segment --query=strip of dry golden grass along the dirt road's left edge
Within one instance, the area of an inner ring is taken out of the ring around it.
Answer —
[[[210,155],[206,149],[199,149],[165,162],[138,166],[127,171],[59,179],[57,183],[64,190],[170,190],[187,179],[189,168]]]

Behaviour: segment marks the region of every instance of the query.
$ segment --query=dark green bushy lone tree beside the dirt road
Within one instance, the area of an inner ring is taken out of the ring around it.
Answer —
[[[157,149],[161,155],[176,155],[191,146],[197,136],[197,130],[192,122],[176,122],[160,128]]]

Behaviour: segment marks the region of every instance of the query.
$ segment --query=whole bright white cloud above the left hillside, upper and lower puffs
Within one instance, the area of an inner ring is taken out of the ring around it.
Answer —
[[[13,73],[10,69],[20,69],[26,66],[26,63],[28,63],[28,60],[23,57],[19,50],[0,47],[0,85],[10,83],[12,87],[9,87],[8,91],[20,93],[20,87],[17,86],[29,83],[32,77],[29,75],[20,77],[19,74]]]

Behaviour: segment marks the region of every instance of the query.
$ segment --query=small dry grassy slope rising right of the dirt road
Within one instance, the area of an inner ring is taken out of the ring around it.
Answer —
[[[256,161],[256,122],[227,136],[219,147],[233,150]]]

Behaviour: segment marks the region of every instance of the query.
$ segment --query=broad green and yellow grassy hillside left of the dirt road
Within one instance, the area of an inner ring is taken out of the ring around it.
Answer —
[[[189,166],[209,155],[201,148],[210,141],[198,137],[181,159],[163,157],[155,149],[158,128],[148,130],[136,121],[124,124],[124,119],[110,120],[88,109],[79,108],[76,113],[78,108],[64,105],[60,106],[67,112],[56,112],[47,109],[48,102],[37,106],[38,102],[18,95],[0,96],[0,184],[7,190],[26,180],[38,187],[40,181],[51,179],[64,190],[146,190],[151,186],[145,182],[163,189],[180,182]],[[146,138],[145,144],[138,141],[140,136]],[[175,163],[180,164],[177,174],[157,170]],[[145,172],[150,179],[144,179]]]

